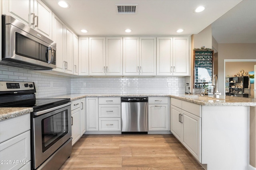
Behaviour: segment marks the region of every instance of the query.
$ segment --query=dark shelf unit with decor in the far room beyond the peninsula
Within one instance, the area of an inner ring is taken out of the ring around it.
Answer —
[[[225,82],[226,96],[237,96],[248,98],[249,94],[244,92],[249,87],[249,77],[227,77]]]

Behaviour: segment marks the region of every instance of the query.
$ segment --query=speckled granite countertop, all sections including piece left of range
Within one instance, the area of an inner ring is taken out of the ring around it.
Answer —
[[[70,98],[71,101],[86,97],[171,97],[204,106],[256,106],[256,99],[241,98],[233,96],[221,96],[220,99],[211,96],[193,96],[193,95],[170,95],[170,94],[67,94],[53,96],[51,98]],[[32,107],[1,107],[0,121],[28,114],[33,111]]]

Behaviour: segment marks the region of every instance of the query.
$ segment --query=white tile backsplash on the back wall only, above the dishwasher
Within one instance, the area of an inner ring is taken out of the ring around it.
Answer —
[[[73,77],[71,92],[82,94],[184,94],[188,77]],[[168,87],[168,83],[170,86]]]

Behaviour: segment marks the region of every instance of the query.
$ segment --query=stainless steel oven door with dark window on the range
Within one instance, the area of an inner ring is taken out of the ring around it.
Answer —
[[[70,103],[33,112],[32,128],[32,164],[36,169],[71,137]]]

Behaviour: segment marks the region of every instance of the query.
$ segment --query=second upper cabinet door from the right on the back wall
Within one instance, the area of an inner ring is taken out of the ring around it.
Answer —
[[[172,75],[172,37],[157,38],[156,63],[158,76]]]

